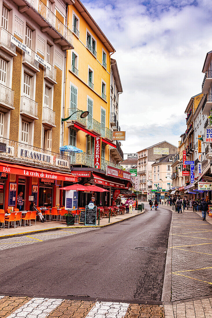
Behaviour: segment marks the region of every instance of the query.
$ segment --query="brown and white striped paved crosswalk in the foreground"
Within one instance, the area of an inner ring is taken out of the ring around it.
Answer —
[[[2,297],[2,296],[0,296]],[[3,296],[0,318],[164,318],[162,305]]]

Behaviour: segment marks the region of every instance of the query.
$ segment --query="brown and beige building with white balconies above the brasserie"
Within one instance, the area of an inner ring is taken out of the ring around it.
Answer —
[[[66,21],[71,3],[0,1],[0,142],[6,147],[0,153],[0,208],[16,207],[19,191],[25,209],[32,192],[36,204],[59,203],[59,189],[50,176],[57,176],[58,184],[66,172],[71,176],[69,158],[59,154],[65,58],[73,49]],[[50,181],[41,180],[41,174]],[[45,190],[48,183],[50,190]]]

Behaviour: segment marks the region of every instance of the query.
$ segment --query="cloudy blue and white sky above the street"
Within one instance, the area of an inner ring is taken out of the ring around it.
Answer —
[[[210,0],[82,0],[116,49],[124,153],[178,145],[190,98],[201,93],[212,50]]]

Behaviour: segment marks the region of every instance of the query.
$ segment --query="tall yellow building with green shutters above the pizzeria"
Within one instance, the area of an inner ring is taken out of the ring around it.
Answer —
[[[102,136],[102,168],[109,160],[110,53],[115,49],[80,1],[68,7],[68,28],[74,34],[74,49],[67,51],[65,117],[77,110],[89,111],[87,118],[75,113],[65,122],[64,145],[83,150],[73,164],[86,164],[94,155],[94,136]]]

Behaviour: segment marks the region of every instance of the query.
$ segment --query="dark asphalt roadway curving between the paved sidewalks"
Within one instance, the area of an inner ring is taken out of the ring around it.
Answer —
[[[145,206],[116,225],[0,251],[0,295],[160,301],[172,213]]]

